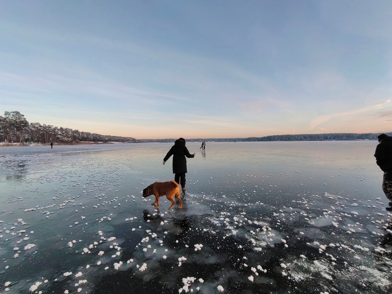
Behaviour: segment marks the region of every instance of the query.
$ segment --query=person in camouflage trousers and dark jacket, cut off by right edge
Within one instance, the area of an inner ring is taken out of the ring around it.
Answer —
[[[386,209],[392,211],[392,137],[381,134],[378,136],[378,142],[374,157],[377,165],[384,172],[383,191],[390,201]]]

